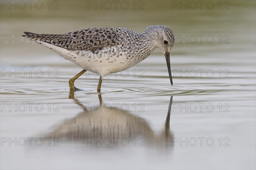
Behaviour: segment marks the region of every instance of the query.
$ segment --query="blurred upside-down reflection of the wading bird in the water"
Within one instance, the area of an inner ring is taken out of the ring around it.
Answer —
[[[160,134],[155,134],[145,119],[129,111],[109,107],[103,103],[100,94],[99,104],[90,109],[73,94],[70,96],[84,111],[58,125],[46,138],[58,138],[61,143],[80,142],[87,146],[173,146],[170,132],[172,97],[165,126]]]

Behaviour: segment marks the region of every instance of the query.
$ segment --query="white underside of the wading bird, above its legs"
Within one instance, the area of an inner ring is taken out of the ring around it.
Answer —
[[[41,43],[49,49],[52,49],[52,51],[56,52],[58,55],[77,64],[81,68],[101,75],[102,78],[105,75],[128,69],[140,62],[139,60],[129,60],[131,58],[127,59],[126,52],[118,52],[117,49],[113,51],[113,47],[111,50],[110,48],[105,48],[101,50],[101,55],[96,55],[90,51],[72,51],[42,41],[38,41],[37,43]],[[110,55],[110,51],[112,55]],[[115,53],[118,55],[114,55]]]

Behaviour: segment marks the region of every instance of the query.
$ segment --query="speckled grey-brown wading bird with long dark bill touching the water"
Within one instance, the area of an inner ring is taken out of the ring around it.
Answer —
[[[88,70],[99,74],[97,92],[100,92],[104,76],[134,66],[157,47],[165,55],[172,84],[169,52],[174,45],[174,35],[168,26],[148,26],[142,34],[126,28],[91,28],[61,35],[24,33],[24,37],[83,68],[69,80],[70,90],[76,89],[74,81]]]

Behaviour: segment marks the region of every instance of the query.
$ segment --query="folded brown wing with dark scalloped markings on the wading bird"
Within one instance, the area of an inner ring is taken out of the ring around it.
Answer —
[[[24,32],[32,40],[40,40],[73,51],[89,50],[95,52],[105,47],[117,46],[125,41],[125,36],[118,28],[92,28],[63,35],[34,34]]]

